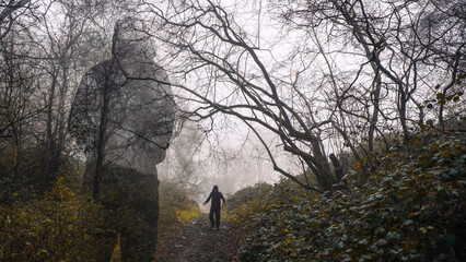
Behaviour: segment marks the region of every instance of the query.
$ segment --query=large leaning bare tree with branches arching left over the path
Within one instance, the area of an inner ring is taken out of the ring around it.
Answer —
[[[210,119],[218,112],[237,117],[259,139],[259,130],[268,129],[280,138],[284,151],[313,170],[323,190],[330,190],[336,177],[315,132],[323,123],[312,121],[308,114],[300,111],[307,110],[310,102],[296,88],[273,79],[261,60],[265,50],[254,45],[232,16],[212,2],[206,7],[197,2],[171,5],[176,16],[163,14],[154,5],[150,8],[162,20],[155,37],[184,59],[180,72],[196,70],[199,73],[196,87],[177,85],[191,95],[188,99],[198,103],[197,109],[186,112],[187,116],[195,121]],[[165,29],[164,34],[161,28]],[[252,62],[245,63],[246,60]],[[298,93],[294,98],[303,108],[291,105],[287,88]],[[279,167],[266,141],[260,140],[277,171],[304,188],[322,191]]]

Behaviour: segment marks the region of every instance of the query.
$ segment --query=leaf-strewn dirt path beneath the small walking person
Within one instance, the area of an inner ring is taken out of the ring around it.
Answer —
[[[231,224],[222,221],[217,230],[210,228],[208,214],[200,214],[160,239],[155,262],[238,262],[237,240]]]

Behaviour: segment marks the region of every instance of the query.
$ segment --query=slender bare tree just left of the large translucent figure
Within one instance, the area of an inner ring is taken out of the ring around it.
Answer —
[[[36,44],[35,56],[44,72],[38,84],[44,93],[42,103],[45,110],[37,128],[44,130],[38,142],[45,150],[43,170],[47,187],[67,157],[69,97],[75,91],[84,69],[93,62],[90,58],[95,50],[89,47],[88,34],[95,26],[95,17],[102,14],[100,11],[105,1],[49,1],[44,5],[42,23],[34,26],[34,32],[40,34],[30,35],[30,38]],[[61,15],[50,19],[57,10]]]

